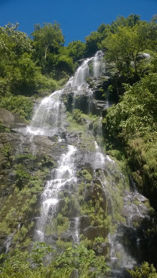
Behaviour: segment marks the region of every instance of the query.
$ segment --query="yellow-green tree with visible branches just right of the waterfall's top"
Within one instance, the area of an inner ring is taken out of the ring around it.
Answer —
[[[141,21],[133,27],[119,26],[115,34],[109,33],[102,41],[102,47],[107,48],[107,59],[114,61],[118,70],[122,70],[124,63],[133,62],[137,73],[137,55],[149,46],[147,37],[148,23]]]

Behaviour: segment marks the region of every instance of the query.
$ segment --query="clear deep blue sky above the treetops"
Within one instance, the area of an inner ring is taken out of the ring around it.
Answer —
[[[118,15],[141,15],[150,21],[157,14],[157,0],[0,0],[0,26],[19,22],[19,30],[30,35],[34,23],[61,24],[65,45],[84,41],[102,23],[111,23]]]

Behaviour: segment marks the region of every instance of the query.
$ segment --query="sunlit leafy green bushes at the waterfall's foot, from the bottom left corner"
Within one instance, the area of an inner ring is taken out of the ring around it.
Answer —
[[[51,256],[51,261],[49,260]],[[31,253],[15,249],[11,254],[1,255],[0,275],[7,277],[71,277],[72,271],[78,277],[104,276],[109,270],[104,257],[96,257],[94,251],[75,245],[58,255],[56,250],[44,242],[37,242]],[[92,270],[91,270],[92,269]]]

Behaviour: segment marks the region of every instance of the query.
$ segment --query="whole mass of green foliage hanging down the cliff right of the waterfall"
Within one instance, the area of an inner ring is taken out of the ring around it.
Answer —
[[[132,86],[125,84],[126,92],[117,105],[108,109],[103,120],[108,148],[119,151],[130,168],[129,174],[142,192],[149,194],[157,186],[157,69],[156,53],[147,68],[147,74]]]

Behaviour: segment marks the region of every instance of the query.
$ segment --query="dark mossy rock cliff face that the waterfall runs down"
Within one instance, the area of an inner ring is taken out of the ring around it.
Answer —
[[[116,163],[98,146],[101,118],[85,115],[101,116],[114,101],[108,88],[120,77],[102,69],[97,77],[85,76],[88,83],[70,86],[70,80],[59,98],[44,100],[30,127],[0,111],[10,129],[0,133],[1,252],[36,240],[61,250],[75,242],[104,255],[113,268],[132,267],[154,254],[148,201],[130,192]]]

